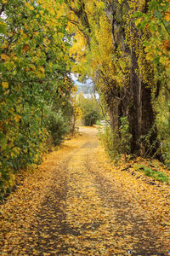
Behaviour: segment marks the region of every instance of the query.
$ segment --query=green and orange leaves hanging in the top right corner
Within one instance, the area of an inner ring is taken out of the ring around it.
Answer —
[[[154,61],[156,68],[163,67],[169,70],[169,35],[170,15],[167,0],[151,0],[147,14],[136,12],[135,24],[144,31],[150,32],[150,37],[144,38],[144,50],[149,61]],[[168,71],[167,71],[168,73]]]

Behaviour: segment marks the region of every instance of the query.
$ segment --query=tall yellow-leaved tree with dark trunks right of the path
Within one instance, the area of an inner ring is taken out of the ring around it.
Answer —
[[[166,17],[162,26],[169,19],[167,1],[164,2],[159,3],[160,8],[164,6],[162,13]],[[93,79],[107,105],[113,131],[119,134],[120,119],[127,117],[133,136],[131,152],[143,154],[140,138],[152,131],[145,150],[148,152],[152,145],[150,154],[156,154],[159,143],[156,141],[157,131],[152,129],[156,122],[152,102],[155,71],[143,44],[146,38],[152,37],[146,20],[147,15],[152,17],[150,6],[155,4],[156,8],[156,1],[74,0],[65,3],[68,30],[74,32],[75,38],[71,47],[71,56],[76,60],[74,70]],[[143,23],[135,20],[134,14],[138,13],[145,15]],[[143,25],[139,26],[140,23]],[[150,27],[153,26],[154,21]],[[167,30],[166,26],[164,30]],[[168,48],[166,40],[163,41],[164,49]]]

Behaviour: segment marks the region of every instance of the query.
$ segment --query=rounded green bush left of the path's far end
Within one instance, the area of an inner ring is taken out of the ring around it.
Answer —
[[[69,121],[59,111],[50,111],[48,113],[48,130],[52,137],[54,146],[59,145],[64,140],[66,134],[70,131]]]

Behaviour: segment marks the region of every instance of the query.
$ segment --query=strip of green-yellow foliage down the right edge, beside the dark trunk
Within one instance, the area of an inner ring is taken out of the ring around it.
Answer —
[[[137,12],[135,23],[144,34],[144,51],[147,61],[153,68],[152,106],[156,112],[156,131],[161,154],[165,164],[170,168],[170,5],[169,1],[151,0],[147,14]],[[144,138],[144,147],[150,142],[151,133]],[[156,142],[157,143],[157,142]],[[153,145],[151,150],[153,149]],[[145,147],[146,148],[146,147]],[[150,152],[145,156],[150,156]]]

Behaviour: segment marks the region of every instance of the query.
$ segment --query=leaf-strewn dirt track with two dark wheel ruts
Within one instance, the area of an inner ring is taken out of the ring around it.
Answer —
[[[51,154],[39,201],[27,209],[26,225],[8,230],[2,255],[166,255],[147,211],[103,168],[97,131],[81,131]]]

